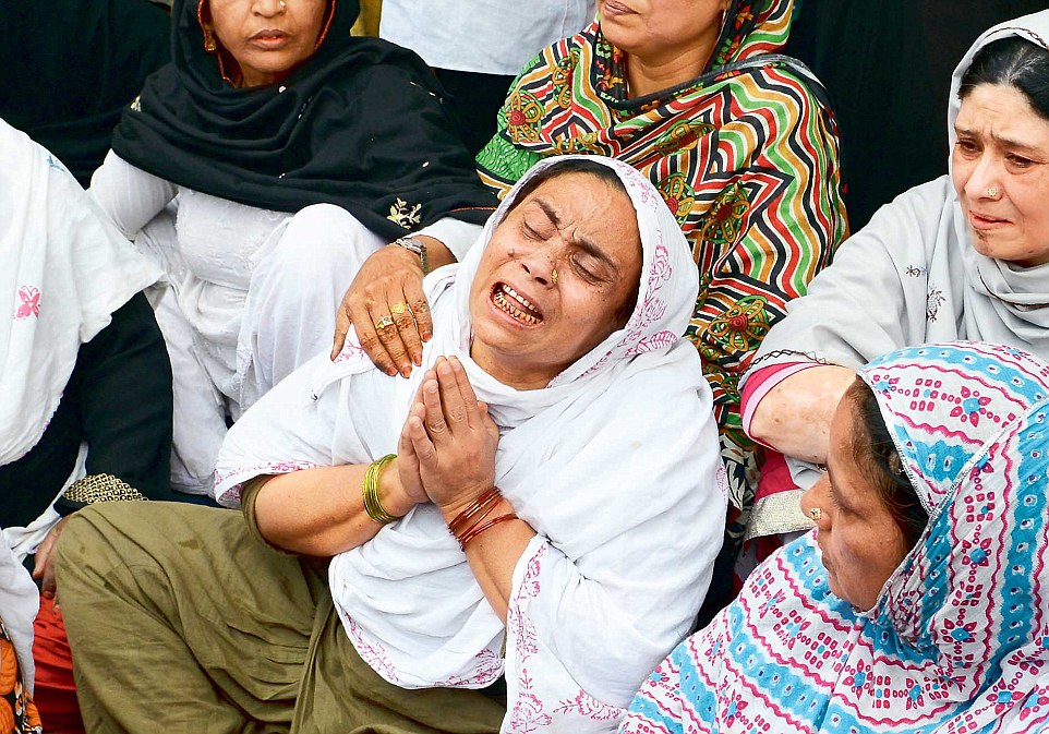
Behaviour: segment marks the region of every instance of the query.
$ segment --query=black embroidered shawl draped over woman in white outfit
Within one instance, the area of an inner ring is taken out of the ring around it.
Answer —
[[[176,0],[172,62],[146,81],[113,151],[150,173],[250,206],[337,204],[394,239],[495,201],[413,52],[350,36],[355,0],[330,0],[326,35],[280,84],[236,88],[204,50],[197,0]]]

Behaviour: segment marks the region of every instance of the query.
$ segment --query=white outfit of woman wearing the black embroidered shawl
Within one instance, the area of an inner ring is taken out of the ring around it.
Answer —
[[[209,493],[227,419],[330,349],[342,294],[386,242],[331,204],[261,209],[178,186],[112,152],[91,192],[166,274],[157,322],[174,382],[171,482]]]

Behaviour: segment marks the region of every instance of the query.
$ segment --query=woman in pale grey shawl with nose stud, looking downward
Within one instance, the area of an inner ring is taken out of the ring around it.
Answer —
[[[793,477],[762,478],[757,532],[810,527],[796,488],[815,481],[831,407],[865,361],[951,339],[1049,359],[1047,89],[1049,11],[980,36],[951,84],[950,175],[882,207],[765,338],[744,422],[792,457]]]

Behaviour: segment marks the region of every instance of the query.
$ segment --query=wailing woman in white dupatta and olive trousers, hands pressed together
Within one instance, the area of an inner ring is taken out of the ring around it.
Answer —
[[[425,285],[436,333],[410,381],[350,339],[233,426],[218,496],[250,527],[145,506],[71,522],[91,731],[607,732],[688,633],[726,500],[679,338],[696,267],[652,184],[543,161]],[[334,556],[327,578],[251,533]]]

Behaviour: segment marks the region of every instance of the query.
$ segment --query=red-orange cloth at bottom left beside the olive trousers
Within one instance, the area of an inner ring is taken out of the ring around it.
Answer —
[[[84,734],[84,721],[73,683],[73,654],[65,637],[62,615],[55,600],[40,598],[40,612],[33,626],[33,660],[36,687],[33,700],[48,734]]]

